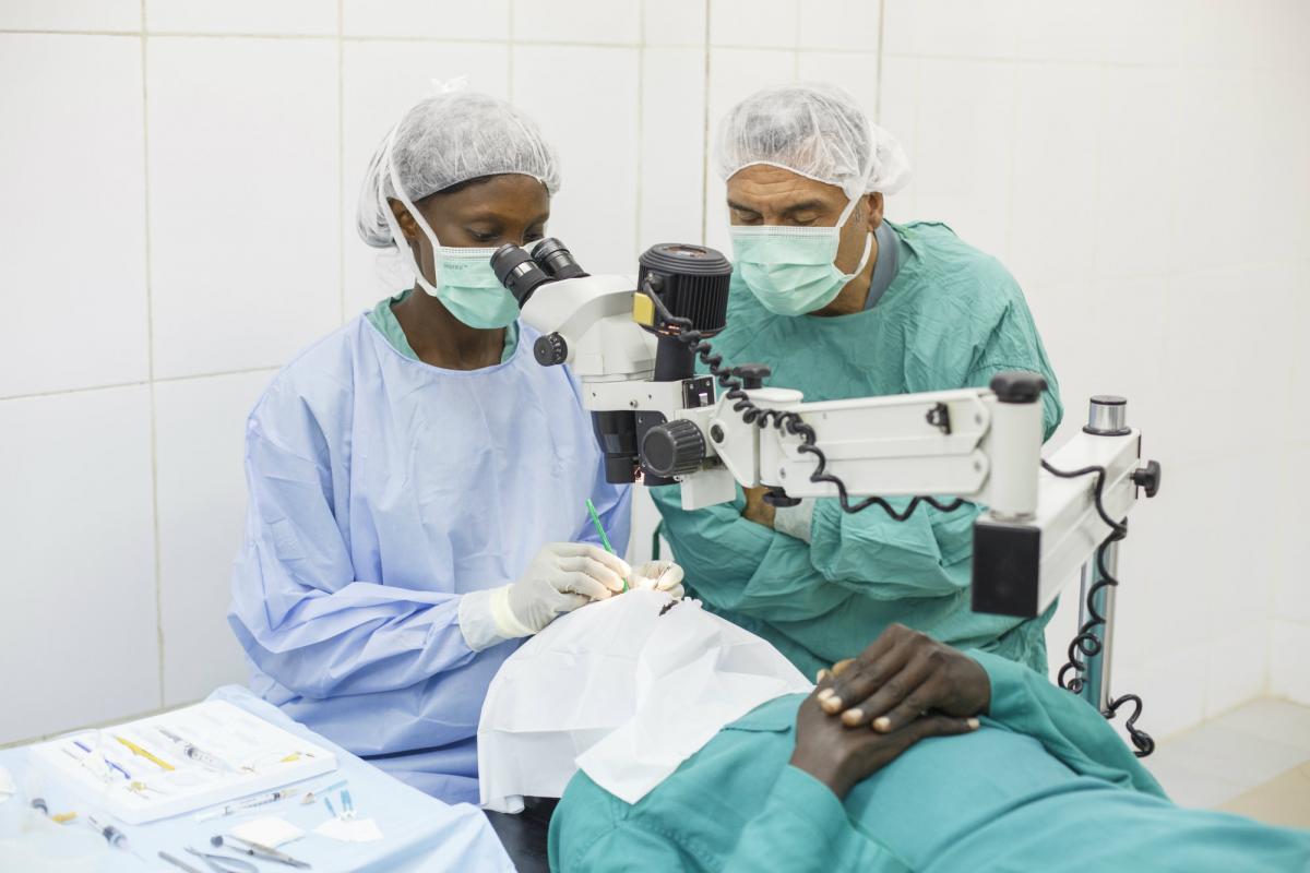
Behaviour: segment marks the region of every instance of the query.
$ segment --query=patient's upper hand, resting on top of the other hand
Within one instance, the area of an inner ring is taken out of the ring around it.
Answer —
[[[872,725],[892,733],[929,711],[948,716],[985,713],[992,682],[969,656],[892,624],[859,657],[833,668],[831,688],[817,692],[828,715],[849,728]]]

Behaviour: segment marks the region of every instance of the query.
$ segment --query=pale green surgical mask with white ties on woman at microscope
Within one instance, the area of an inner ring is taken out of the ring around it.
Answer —
[[[491,270],[491,255],[495,254],[495,249],[456,249],[443,246],[436,238],[436,233],[428,226],[427,219],[423,217],[423,213],[418,211],[418,207],[405,194],[405,187],[396,173],[396,162],[392,161],[392,145],[396,141],[398,127],[392,128],[392,136],[386,144],[386,166],[392,175],[392,187],[396,190],[396,199],[405,204],[405,208],[414,216],[414,221],[422,228],[423,236],[427,237],[428,243],[432,246],[432,254],[436,259],[436,284],[434,285],[423,275],[423,270],[414,258],[414,253],[409,247],[405,234],[396,221],[396,216],[392,215],[390,207],[383,203],[383,215],[386,216],[386,223],[390,225],[392,238],[396,241],[397,250],[400,250],[401,257],[409,258],[419,287],[440,300],[441,305],[461,322],[469,327],[481,327],[483,330],[508,327],[519,317],[519,301],[500,284],[500,280],[495,277],[495,272]],[[383,194],[379,192],[379,196],[381,198]]]

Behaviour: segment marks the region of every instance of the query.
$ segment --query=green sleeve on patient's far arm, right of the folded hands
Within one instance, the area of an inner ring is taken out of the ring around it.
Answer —
[[[976,649],[968,654],[982,665],[992,682],[988,721],[1034,737],[1079,775],[1167,797],[1128,743],[1082,698],[996,654]]]

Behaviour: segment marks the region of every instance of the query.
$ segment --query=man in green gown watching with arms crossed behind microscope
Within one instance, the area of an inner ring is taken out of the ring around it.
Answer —
[[[850,94],[794,84],[748,97],[719,127],[715,164],[735,262],[727,327],[713,340],[724,361],[766,364],[768,385],[807,401],[986,386],[1031,370],[1049,386],[1049,438],[1058,386],[1023,292],[946,225],[883,217],[883,195],[904,187],[909,168]],[[977,507],[921,505],[899,522],[878,507],[846,513],[836,499],[774,509],[764,493],[684,512],[677,487],[652,491],[688,588],[807,675],[895,622],[1045,671],[1049,613],[969,610]]]

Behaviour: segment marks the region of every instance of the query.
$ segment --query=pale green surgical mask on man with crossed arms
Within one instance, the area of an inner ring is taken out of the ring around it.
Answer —
[[[730,228],[732,268],[760,304],[776,315],[803,315],[823,309],[863,271],[874,247],[870,233],[855,272],[844,274],[837,268],[841,229],[854,208],[855,198],[852,198],[832,228]]]

